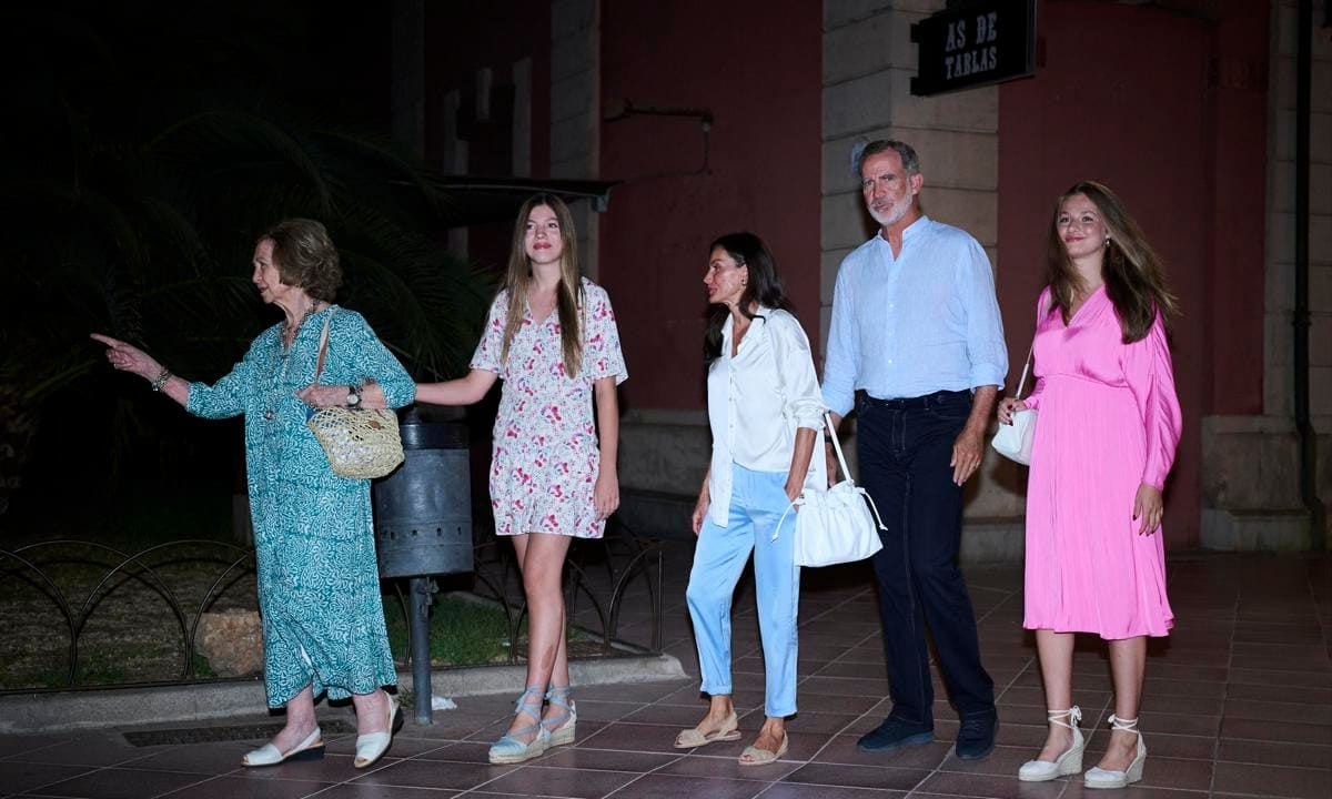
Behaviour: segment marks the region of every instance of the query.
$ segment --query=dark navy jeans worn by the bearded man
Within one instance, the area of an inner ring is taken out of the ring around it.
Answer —
[[[994,682],[980,665],[976,618],[958,570],[962,487],[952,443],[971,413],[970,392],[911,400],[862,397],[856,453],[860,482],[887,531],[874,555],[879,619],[892,696],[890,718],[934,726],[926,625],[939,671],[963,719],[995,712]]]

